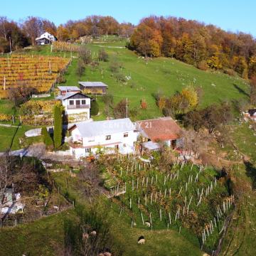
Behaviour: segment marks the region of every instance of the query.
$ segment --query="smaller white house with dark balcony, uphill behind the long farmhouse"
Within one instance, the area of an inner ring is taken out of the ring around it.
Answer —
[[[65,115],[69,122],[90,119],[90,101],[93,99],[82,92],[67,92],[64,95],[58,95],[55,99],[60,100],[65,107]]]

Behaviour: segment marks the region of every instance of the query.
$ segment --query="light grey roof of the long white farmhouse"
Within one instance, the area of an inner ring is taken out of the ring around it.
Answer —
[[[75,124],[75,126],[78,127],[78,131],[80,132],[82,137],[111,135],[118,132],[134,131],[135,129],[134,124],[129,118],[111,119],[95,122],[80,122]]]

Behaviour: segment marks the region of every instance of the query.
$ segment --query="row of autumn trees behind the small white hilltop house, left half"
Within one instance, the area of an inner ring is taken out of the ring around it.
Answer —
[[[118,23],[110,16],[89,16],[79,21],[68,21],[58,27],[45,18],[29,16],[17,23],[0,16],[0,53],[34,45],[36,38],[45,31],[56,36],[59,41],[75,41],[80,36],[117,35],[129,38],[133,30],[132,23]]]

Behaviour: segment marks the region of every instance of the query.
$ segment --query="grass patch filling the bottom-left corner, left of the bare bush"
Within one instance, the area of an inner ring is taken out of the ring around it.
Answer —
[[[68,210],[16,228],[0,230],[0,255],[63,255],[63,220],[75,217]]]

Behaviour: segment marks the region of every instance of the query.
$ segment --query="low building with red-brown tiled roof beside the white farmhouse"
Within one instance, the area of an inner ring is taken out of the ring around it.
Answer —
[[[136,128],[142,135],[142,147],[158,150],[161,144],[176,148],[181,144],[181,127],[171,117],[160,117],[136,122]]]

